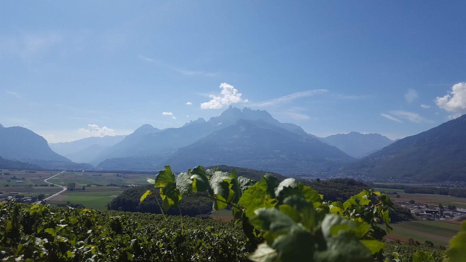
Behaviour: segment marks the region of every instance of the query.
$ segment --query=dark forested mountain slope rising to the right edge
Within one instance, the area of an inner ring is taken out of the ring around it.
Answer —
[[[339,172],[415,181],[466,181],[466,114],[350,163]]]

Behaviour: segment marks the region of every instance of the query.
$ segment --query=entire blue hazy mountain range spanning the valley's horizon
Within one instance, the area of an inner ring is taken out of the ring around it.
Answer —
[[[319,138],[277,121],[267,111],[229,107],[208,121],[199,118],[180,128],[145,124],[127,136],[50,144],[71,160],[27,128],[0,127],[3,162],[21,160],[43,168],[94,168],[72,160],[85,160],[100,170],[158,170],[171,165],[182,171],[225,164],[300,176],[466,181],[466,115],[392,141],[381,134],[356,132]]]

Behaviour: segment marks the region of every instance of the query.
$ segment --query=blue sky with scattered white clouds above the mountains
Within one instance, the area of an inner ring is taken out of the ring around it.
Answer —
[[[391,139],[466,113],[465,1],[0,2],[0,123],[49,142],[229,105]]]

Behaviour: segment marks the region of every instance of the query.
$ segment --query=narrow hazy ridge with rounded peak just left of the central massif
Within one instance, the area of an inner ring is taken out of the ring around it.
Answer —
[[[141,141],[147,134],[158,133],[162,130],[158,128],[154,128],[149,124],[144,124],[134,130],[133,133],[124,137],[122,141],[117,142],[116,144],[104,148],[102,152],[96,155],[92,161],[92,164],[98,164],[101,161],[108,159],[108,158],[115,158],[115,157],[125,157],[128,155],[133,155],[132,152],[137,151],[137,147],[135,145]]]

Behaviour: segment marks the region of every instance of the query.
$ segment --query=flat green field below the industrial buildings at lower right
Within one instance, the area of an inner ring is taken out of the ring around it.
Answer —
[[[388,240],[407,242],[412,238],[419,242],[429,240],[436,245],[448,245],[452,236],[458,234],[460,225],[450,221],[413,221],[391,224],[391,227],[393,231],[385,237]]]

